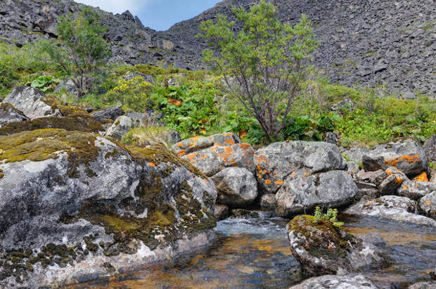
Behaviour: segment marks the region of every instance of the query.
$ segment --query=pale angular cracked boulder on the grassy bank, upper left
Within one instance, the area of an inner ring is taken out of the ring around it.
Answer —
[[[30,86],[18,86],[6,96],[4,103],[11,103],[30,119],[37,117],[59,116],[60,112],[47,101],[44,92]]]

